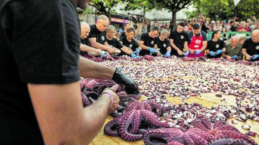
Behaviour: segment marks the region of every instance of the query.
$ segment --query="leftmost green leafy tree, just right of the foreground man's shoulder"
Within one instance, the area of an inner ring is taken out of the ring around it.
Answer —
[[[121,2],[122,0],[93,0],[89,5],[96,8],[95,14],[106,15],[110,19],[111,14],[114,12],[112,8]]]

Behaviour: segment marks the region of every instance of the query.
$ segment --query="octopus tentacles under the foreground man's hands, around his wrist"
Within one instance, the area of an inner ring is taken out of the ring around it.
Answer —
[[[80,81],[81,87],[81,98],[84,107],[92,105],[96,102],[99,96],[102,94],[102,91],[105,88],[110,88],[116,85],[112,80],[104,80],[104,79],[82,79]],[[110,114],[113,117],[120,116],[122,111],[125,109],[127,104],[132,101],[136,101],[141,97],[141,93],[136,92],[137,94],[127,94],[125,91],[125,86],[119,85],[116,93],[120,99],[119,107],[117,110]]]

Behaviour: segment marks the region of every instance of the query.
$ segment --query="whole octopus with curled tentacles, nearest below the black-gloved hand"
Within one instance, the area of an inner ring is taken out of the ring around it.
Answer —
[[[158,116],[169,109],[169,107],[161,107],[153,100],[130,102],[122,115],[115,117],[104,126],[104,133],[113,137],[120,136],[127,141],[143,139],[144,135],[152,129],[170,127]]]

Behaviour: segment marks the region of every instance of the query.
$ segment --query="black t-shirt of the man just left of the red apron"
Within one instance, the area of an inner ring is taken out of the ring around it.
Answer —
[[[188,42],[188,35],[185,31],[182,31],[182,33],[178,33],[176,30],[172,30],[170,32],[169,39],[174,40],[174,44],[180,49],[183,50],[185,41]],[[172,55],[178,54],[177,51],[172,47],[171,51]]]

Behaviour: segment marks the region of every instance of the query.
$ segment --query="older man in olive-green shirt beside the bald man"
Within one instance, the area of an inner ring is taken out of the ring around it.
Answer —
[[[231,38],[231,44],[227,44],[226,48],[223,48],[222,57],[226,59],[242,59],[241,49],[242,46],[238,44],[238,37],[233,36]]]

